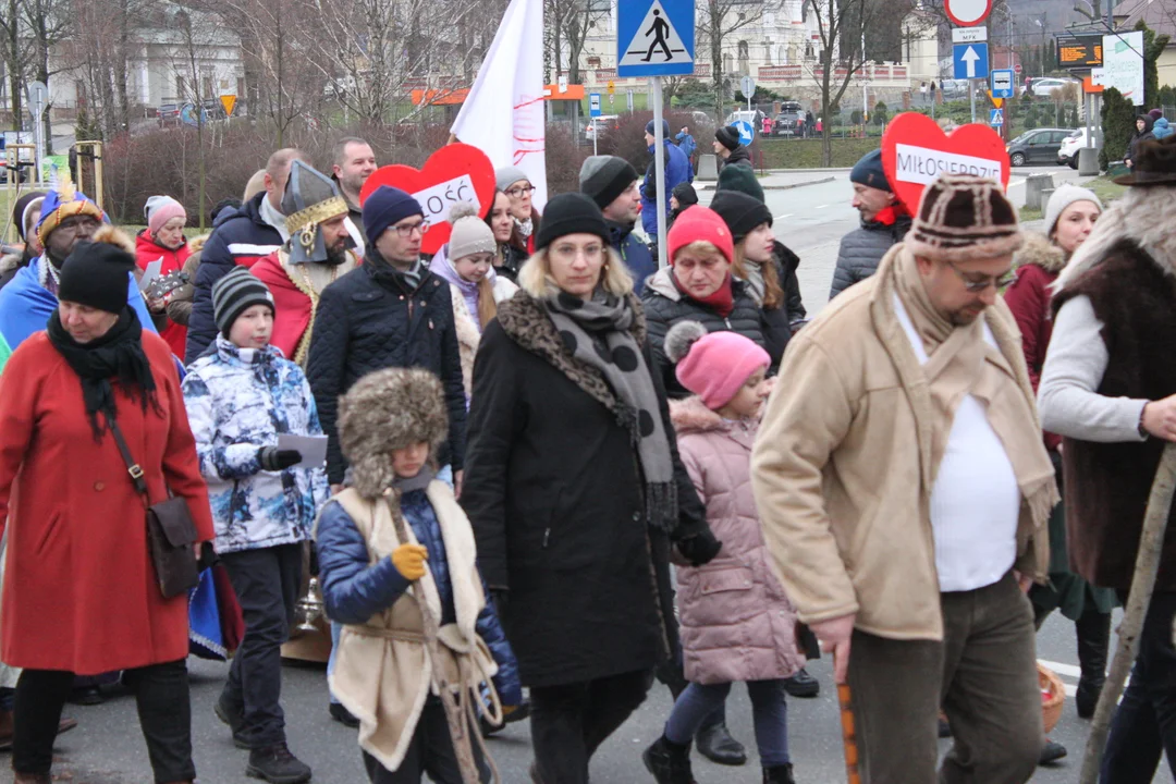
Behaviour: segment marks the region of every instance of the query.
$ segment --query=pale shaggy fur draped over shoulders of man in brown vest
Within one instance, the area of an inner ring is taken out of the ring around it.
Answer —
[[[1122,199],[1098,217],[1094,232],[1074,253],[1058,275],[1058,292],[1101,263],[1120,242],[1130,242],[1147,253],[1168,275],[1176,274],[1176,186],[1128,188]]]

